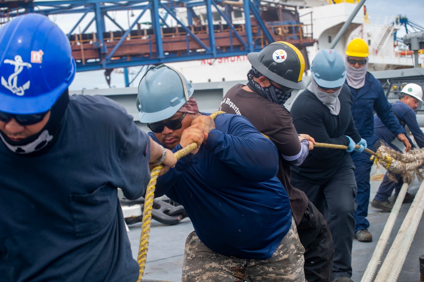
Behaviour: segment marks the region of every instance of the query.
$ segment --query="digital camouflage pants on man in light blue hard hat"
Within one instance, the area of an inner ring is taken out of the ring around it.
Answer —
[[[184,251],[182,282],[306,282],[304,248],[292,218],[289,232],[268,260],[240,259],[213,252],[191,232]]]

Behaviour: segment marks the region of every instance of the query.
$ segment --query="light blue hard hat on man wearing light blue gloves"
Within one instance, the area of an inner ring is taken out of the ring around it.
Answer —
[[[322,87],[340,87],[346,80],[343,57],[334,49],[321,50],[311,64],[312,77]]]

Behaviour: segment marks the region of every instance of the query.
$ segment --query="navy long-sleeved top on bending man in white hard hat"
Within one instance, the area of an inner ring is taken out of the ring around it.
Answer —
[[[395,113],[396,117],[399,119],[400,124],[404,127],[407,125],[409,129],[411,130],[412,135],[415,138],[415,141],[417,142],[418,147],[423,148],[424,147],[424,134],[422,130],[420,129],[418,122],[417,122],[417,116],[415,111],[405,104],[402,101],[396,101],[392,104],[393,112]],[[406,132],[404,132],[406,135]],[[396,135],[393,134],[381,121],[381,119],[374,115],[374,136],[377,139],[382,139],[388,143],[391,143],[393,140],[395,140]],[[409,138],[408,138],[409,139]],[[411,145],[413,147],[414,144],[410,141]]]

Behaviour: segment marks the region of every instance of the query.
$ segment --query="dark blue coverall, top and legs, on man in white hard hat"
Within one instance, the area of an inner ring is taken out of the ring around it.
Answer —
[[[398,118],[400,124],[403,127],[407,125],[408,128],[411,130],[411,133],[414,136],[418,147],[423,148],[424,134],[418,125],[415,111],[409,105],[402,101],[394,102],[392,104],[392,109],[396,117]],[[388,130],[387,127],[385,127],[385,125],[381,122],[381,119],[377,115],[374,115],[374,137],[377,140],[374,147],[379,147],[382,140],[384,141],[386,146],[391,147],[396,151],[402,152],[395,145],[391,144],[391,142],[396,139],[396,136],[390,130]],[[412,147],[415,147],[412,141],[410,141],[410,143]],[[400,174],[395,174],[394,176],[398,181],[397,183],[389,180],[388,171],[386,172],[374,199],[376,199],[377,201],[388,201],[388,198],[391,196],[393,189],[396,189],[396,194],[399,194],[399,190],[403,184],[403,179]]]

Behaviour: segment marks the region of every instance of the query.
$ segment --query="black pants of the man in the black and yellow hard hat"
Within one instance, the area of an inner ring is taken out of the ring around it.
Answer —
[[[331,282],[334,258],[333,240],[324,216],[309,201],[297,226],[300,242],[305,248],[304,271],[308,282]]]

